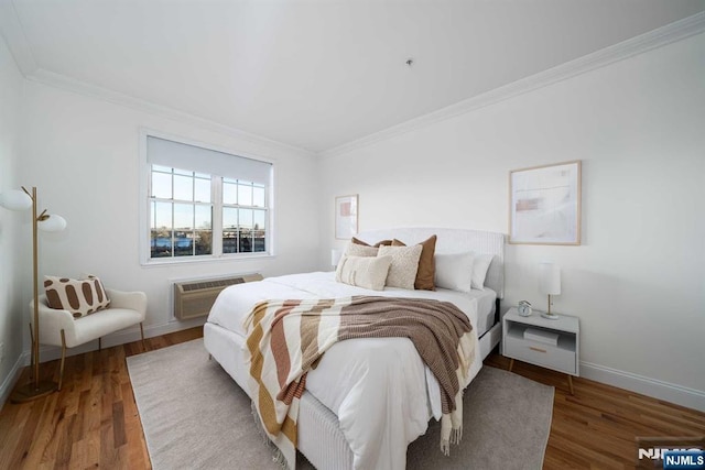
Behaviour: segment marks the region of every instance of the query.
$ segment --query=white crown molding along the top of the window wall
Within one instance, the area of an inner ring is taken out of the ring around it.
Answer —
[[[42,84],[42,85],[51,86],[54,88],[61,88],[67,91],[73,91],[78,95],[96,98],[102,101],[108,101],[113,105],[124,106],[128,108],[135,109],[138,111],[149,112],[151,114],[155,114],[162,118],[167,118],[178,122],[187,123],[204,130],[229,135],[239,140],[245,140],[253,144],[267,145],[269,147],[283,150],[286,152],[294,152],[295,154],[301,156],[307,156],[307,157],[316,156],[314,152],[311,152],[305,149],[301,149],[294,145],[279,142],[279,141],[275,141],[265,136],[261,136],[258,134],[253,134],[247,131],[241,131],[239,129],[231,128],[229,125],[225,125],[219,122],[210,121],[208,119],[200,118],[198,116],[180,111],[177,109],[170,108],[166,106],[156,105],[148,100],[134,98],[132,96],[113,91],[108,88],[90,85],[85,81],[80,81],[62,74],[56,74],[53,72],[45,70],[43,68],[37,68],[33,74],[26,76],[26,79]]]

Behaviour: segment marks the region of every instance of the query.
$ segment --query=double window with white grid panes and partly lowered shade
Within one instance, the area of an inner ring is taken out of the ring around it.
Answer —
[[[272,164],[147,138],[149,260],[270,252]]]

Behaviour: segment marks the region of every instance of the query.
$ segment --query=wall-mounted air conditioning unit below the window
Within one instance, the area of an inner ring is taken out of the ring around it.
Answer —
[[[261,274],[234,277],[192,280],[174,283],[174,316],[180,320],[208,315],[216,297],[224,288],[246,282],[262,281]]]

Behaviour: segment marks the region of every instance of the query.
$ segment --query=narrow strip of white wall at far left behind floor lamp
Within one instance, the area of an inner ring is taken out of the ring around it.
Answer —
[[[21,98],[22,75],[4,41],[0,39],[0,193],[20,189],[17,166],[20,155]],[[24,216],[0,208],[0,406],[12,389],[15,371],[20,367],[22,334],[29,334],[21,307],[20,285],[23,280],[17,275],[20,266],[17,254],[18,226]]]

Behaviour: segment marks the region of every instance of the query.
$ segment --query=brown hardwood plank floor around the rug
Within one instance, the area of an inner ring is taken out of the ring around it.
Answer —
[[[147,339],[155,350],[202,336],[200,328]],[[141,342],[67,358],[64,387],[0,411],[0,469],[150,468],[124,358],[142,352]],[[486,364],[507,369],[490,354]],[[58,376],[58,361],[42,364]],[[555,386],[553,423],[544,469],[633,468],[637,436],[703,436],[705,413],[661,402],[585,379],[516,362],[513,371]],[[26,381],[29,371],[21,381]],[[21,382],[23,383],[23,382]]]

